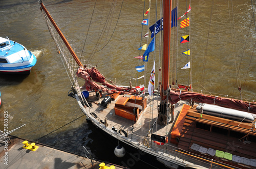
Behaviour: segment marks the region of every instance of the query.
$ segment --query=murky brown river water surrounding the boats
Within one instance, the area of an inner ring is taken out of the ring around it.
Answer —
[[[113,18],[109,20],[111,26],[107,27],[108,35],[102,38],[95,54],[90,53],[95,52],[94,46],[101,35],[104,19],[109,15],[113,2],[97,1],[95,8],[95,1],[49,0],[44,3],[70,43],[77,51],[84,48],[86,58],[93,57],[91,63],[99,65],[97,68],[103,72],[105,77],[112,80],[116,78],[117,82],[122,85],[129,85],[129,79],[137,77],[135,66],[138,66],[138,60],[134,57],[140,54],[137,49],[141,46],[140,23],[143,17],[144,1],[124,1],[123,4],[122,1],[116,1]],[[178,16],[183,15],[188,9],[185,6],[186,3],[188,6],[188,2],[179,1]],[[255,1],[252,3],[255,8]],[[155,20],[153,14],[155,4],[155,1],[152,1],[151,25]],[[233,6],[233,11],[231,6]],[[254,22],[251,24],[253,16],[251,1],[234,1],[232,4],[230,1],[229,7],[230,10],[228,10],[227,2],[215,1],[211,13],[210,1],[200,0],[191,4],[189,27],[191,46],[187,46],[188,43],[178,44],[180,56],[178,80],[179,83],[190,83],[187,82],[188,72],[180,69],[187,63],[187,57],[181,53],[190,48],[193,58],[191,61],[192,82],[195,90],[207,90],[214,95],[218,93],[240,98],[240,92],[237,90],[238,79],[242,87],[242,98],[249,101],[255,100],[256,57],[253,47],[256,34]],[[147,9],[148,5],[145,8]],[[2,99],[0,130],[4,128],[4,112],[8,111],[8,130],[26,124],[12,135],[38,140],[38,142],[78,154],[83,154],[82,146],[84,146],[94,158],[120,165],[131,158],[117,159],[113,153],[115,147],[86,122],[86,117],[82,116],[76,101],[67,96],[71,82],[58,57],[38,2],[1,0],[0,14],[2,18],[0,36],[8,36],[11,40],[23,44],[37,58],[37,63],[29,76],[0,75]],[[229,15],[233,16],[231,25]],[[185,28],[178,32],[179,38],[187,35]],[[143,35],[145,33],[146,26],[143,28]],[[85,40],[86,43],[84,43]],[[233,54],[233,48],[237,54]],[[207,54],[205,54],[206,51]],[[147,63],[147,76],[152,65],[151,59]],[[156,69],[158,69],[157,65],[158,62],[156,62]],[[239,76],[237,65],[240,65]],[[143,74],[139,74],[141,75]],[[143,83],[143,81],[139,82]],[[134,83],[133,85],[135,86]],[[72,122],[73,120],[75,121]],[[137,168],[145,165],[140,161],[137,163],[138,165],[131,167]]]

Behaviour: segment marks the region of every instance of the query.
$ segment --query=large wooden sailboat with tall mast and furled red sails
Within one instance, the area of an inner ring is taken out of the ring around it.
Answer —
[[[117,157],[123,157],[125,150],[135,150],[134,158],[123,165],[132,168],[137,159],[147,155],[147,162],[156,168],[158,163],[169,168],[256,167],[254,101],[196,93],[189,85],[169,84],[170,1],[162,4],[162,79],[158,90],[153,88],[149,93],[142,92],[143,86],[116,86],[106,81],[96,67],[82,64],[44,3],[39,0],[39,4],[53,39],[63,41],[56,44],[73,79],[69,95],[76,99],[88,121],[117,140]],[[62,52],[63,46],[71,53],[70,58]],[[143,69],[137,67],[138,71]],[[155,71],[153,67],[151,79]]]

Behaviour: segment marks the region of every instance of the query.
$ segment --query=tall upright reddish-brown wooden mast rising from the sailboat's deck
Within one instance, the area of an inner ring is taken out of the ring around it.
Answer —
[[[161,82],[161,101],[158,121],[160,124],[167,123],[169,115],[169,104],[167,93],[169,89],[169,58],[170,58],[170,21],[172,11],[172,0],[163,1],[163,57],[162,57],[162,82]]]

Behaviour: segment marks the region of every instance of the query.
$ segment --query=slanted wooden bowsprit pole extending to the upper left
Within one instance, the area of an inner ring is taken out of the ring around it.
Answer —
[[[76,63],[78,64],[78,66],[83,66],[82,63],[80,62],[80,60],[78,59],[75,51],[72,49],[72,47],[70,46],[69,42],[67,41],[67,39],[65,38],[65,36],[62,34],[62,32],[60,31],[59,27],[57,26],[57,24],[55,23],[55,21],[53,20],[52,16],[50,15],[50,13],[47,11],[45,5],[42,3],[42,0],[39,0],[39,4],[41,6],[41,10],[44,10],[46,15],[48,16],[48,18],[50,19],[50,21],[52,22],[53,26],[55,27],[56,31],[58,32],[59,36],[61,37],[61,39],[63,40],[63,42],[65,43],[65,45],[67,46],[67,48],[69,49],[70,53],[72,54],[73,58],[75,59]]]

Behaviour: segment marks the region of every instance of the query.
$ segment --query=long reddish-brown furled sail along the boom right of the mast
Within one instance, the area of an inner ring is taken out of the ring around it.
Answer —
[[[195,102],[199,103],[208,103],[215,104],[226,108],[233,108],[241,111],[248,111],[252,114],[256,114],[256,104],[255,102],[246,103],[242,100],[230,99],[230,98],[221,98],[215,96],[207,96],[200,93],[195,92],[175,92],[170,90],[168,96],[169,102],[171,104],[177,103],[179,100],[188,100],[193,99]]]

